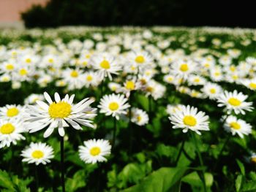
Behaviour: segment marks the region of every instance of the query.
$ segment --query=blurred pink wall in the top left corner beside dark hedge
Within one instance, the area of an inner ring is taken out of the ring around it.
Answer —
[[[48,0],[0,0],[0,22],[20,20],[20,12],[29,9],[33,4],[46,4]]]

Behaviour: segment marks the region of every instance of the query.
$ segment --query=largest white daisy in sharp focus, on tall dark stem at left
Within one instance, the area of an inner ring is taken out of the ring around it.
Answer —
[[[83,99],[78,104],[72,104],[75,95],[66,95],[61,99],[59,93],[54,94],[55,101],[52,101],[48,93],[44,93],[46,104],[44,101],[37,101],[37,106],[29,105],[26,119],[29,123],[29,132],[36,132],[42,128],[48,127],[45,131],[44,137],[49,137],[53,133],[54,128],[58,127],[61,137],[64,136],[64,127],[71,125],[75,129],[83,129],[83,126],[94,127],[89,120],[96,116],[95,109],[90,107],[94,102],[93,99]]]

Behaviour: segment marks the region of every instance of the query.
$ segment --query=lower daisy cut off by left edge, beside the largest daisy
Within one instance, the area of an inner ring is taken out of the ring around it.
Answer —
[[[11,143],[17,144],[20,139],[25,139],[23,133],[26,128],[20,120],[0,120],[0,148],[10,147]]]

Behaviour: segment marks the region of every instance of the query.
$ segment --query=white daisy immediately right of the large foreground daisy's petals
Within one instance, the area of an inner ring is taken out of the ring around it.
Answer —
[[[124,95],[113,93],[103,96],[99,101],[98,107],[100,108],[99,112],[105,113],[105,115],[112,115],[118,120],[120,115],[127,114],[126,110],[130,106],[127,104],[127,98],[124,98]]]

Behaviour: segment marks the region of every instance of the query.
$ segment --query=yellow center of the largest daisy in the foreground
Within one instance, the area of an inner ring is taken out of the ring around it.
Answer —
[[[50,118],[67,118],[71,113],[71,105],[65,101],[53,102],[48,109]]]

